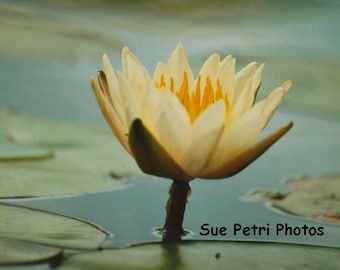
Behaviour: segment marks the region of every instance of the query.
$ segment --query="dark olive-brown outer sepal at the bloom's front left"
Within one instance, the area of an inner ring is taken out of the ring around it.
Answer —
[[[129,145],[143,172],[178,181],[193,179],[173,160],[140,119],[136,119],[131,125]]]

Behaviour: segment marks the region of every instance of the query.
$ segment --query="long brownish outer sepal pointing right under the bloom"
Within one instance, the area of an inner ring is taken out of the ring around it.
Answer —
[[[198,177],[206,179],[221,179],[237,174],[261,156],[270,146],[285,135],[292,126],[293,122],[288,123],[249,148],[247,151],[244,151],[234,159],[227,161],[214,172],[209,174],[202,173],[202,175]],[[228,150],[226,149],[226,151]]]

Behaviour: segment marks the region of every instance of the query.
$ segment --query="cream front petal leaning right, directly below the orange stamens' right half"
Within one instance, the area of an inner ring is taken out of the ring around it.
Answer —
[[[198,175],[208,166],[218,144],[225,119],[225,104],[216,102],[205,110],[192,127],[190,147],[180,162],[190,174]]]

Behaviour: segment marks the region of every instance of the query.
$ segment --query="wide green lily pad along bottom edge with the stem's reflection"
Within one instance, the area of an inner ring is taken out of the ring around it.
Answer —
[[[58,269],[336,269],[339,256],[339,249],[318,246],[186,241],[75,255]]]

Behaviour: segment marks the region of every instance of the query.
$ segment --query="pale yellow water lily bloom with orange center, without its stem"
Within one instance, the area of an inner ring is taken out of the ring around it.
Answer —
[[[91,79],[113,133],[147,174],[190,181],[230,177],[263,154],[292,122],[257,141],[291,86],[284,82],[255,103],[264,65],[235,71],[235,58],[211,55],[194,77],[179,44],[150,76],[128,49],[122,72],[103,56]]]

